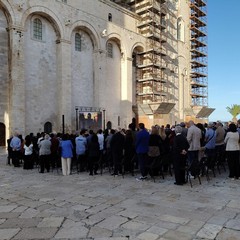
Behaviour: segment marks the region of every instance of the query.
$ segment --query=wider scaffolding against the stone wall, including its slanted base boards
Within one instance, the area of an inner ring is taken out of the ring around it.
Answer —
[[[169,88],[169,72],[174,71],[173,63],[167,60],[166,0],[115,0],[125,7],[128,4],[141,17],[137,27],[146,37],[147,46],[136,52],[133,65],[136,69],[136,104],[134,112],[151,115],[163,113],[163,104],[169,113],[174,107],[174,99]],[[166,104],[169,106],[166,107]],[[166,113],[166,111],[164,111]]]

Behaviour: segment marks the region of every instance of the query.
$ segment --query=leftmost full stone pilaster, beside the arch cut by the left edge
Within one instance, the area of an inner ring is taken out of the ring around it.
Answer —
[[[24,79],[24,30],[21,26],[9,29],[10,106],[9,128],[25,134],[25,79]]]

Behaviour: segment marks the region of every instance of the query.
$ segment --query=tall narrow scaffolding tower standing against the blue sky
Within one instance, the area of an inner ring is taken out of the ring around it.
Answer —
[[[207,0],[190,0],[190,9],[192,105],[207,106]]]

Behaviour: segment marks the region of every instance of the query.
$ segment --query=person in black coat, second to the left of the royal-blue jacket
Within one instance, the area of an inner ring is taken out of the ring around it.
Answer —
[[[119,129],[113,136],[110,142],[110,148],[113,157],[114,172],[112,175],[122,173],[122,159],[124,149],[125,137],[121,129]]]

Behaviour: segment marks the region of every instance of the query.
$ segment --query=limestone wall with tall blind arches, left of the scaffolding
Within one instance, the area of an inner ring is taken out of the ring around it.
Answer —
[[[0,11],[0,48],[4,53],[0,60],[0,121],[8,135],[14,130],[23,135],[43,131],[46,122],[60,131],[62,115],[66,130],[71,132],[76,105],[106,109],[106,122],[111,121],[114,127],[118,116],[123,116],[120,125],[128,123],[133,116],[128,59],[134,47],[145,44],[136,32],[134,14],[107,0],[68,0],[67,4],[3,0],[0,6],[8,13],[6,17]],[[41,41],[32,35],[36,17],[43,24]],[[75,51],[77,32],[83,38],[81,52]],[[106,54],[108,41],[114,46],[113,59]]]

